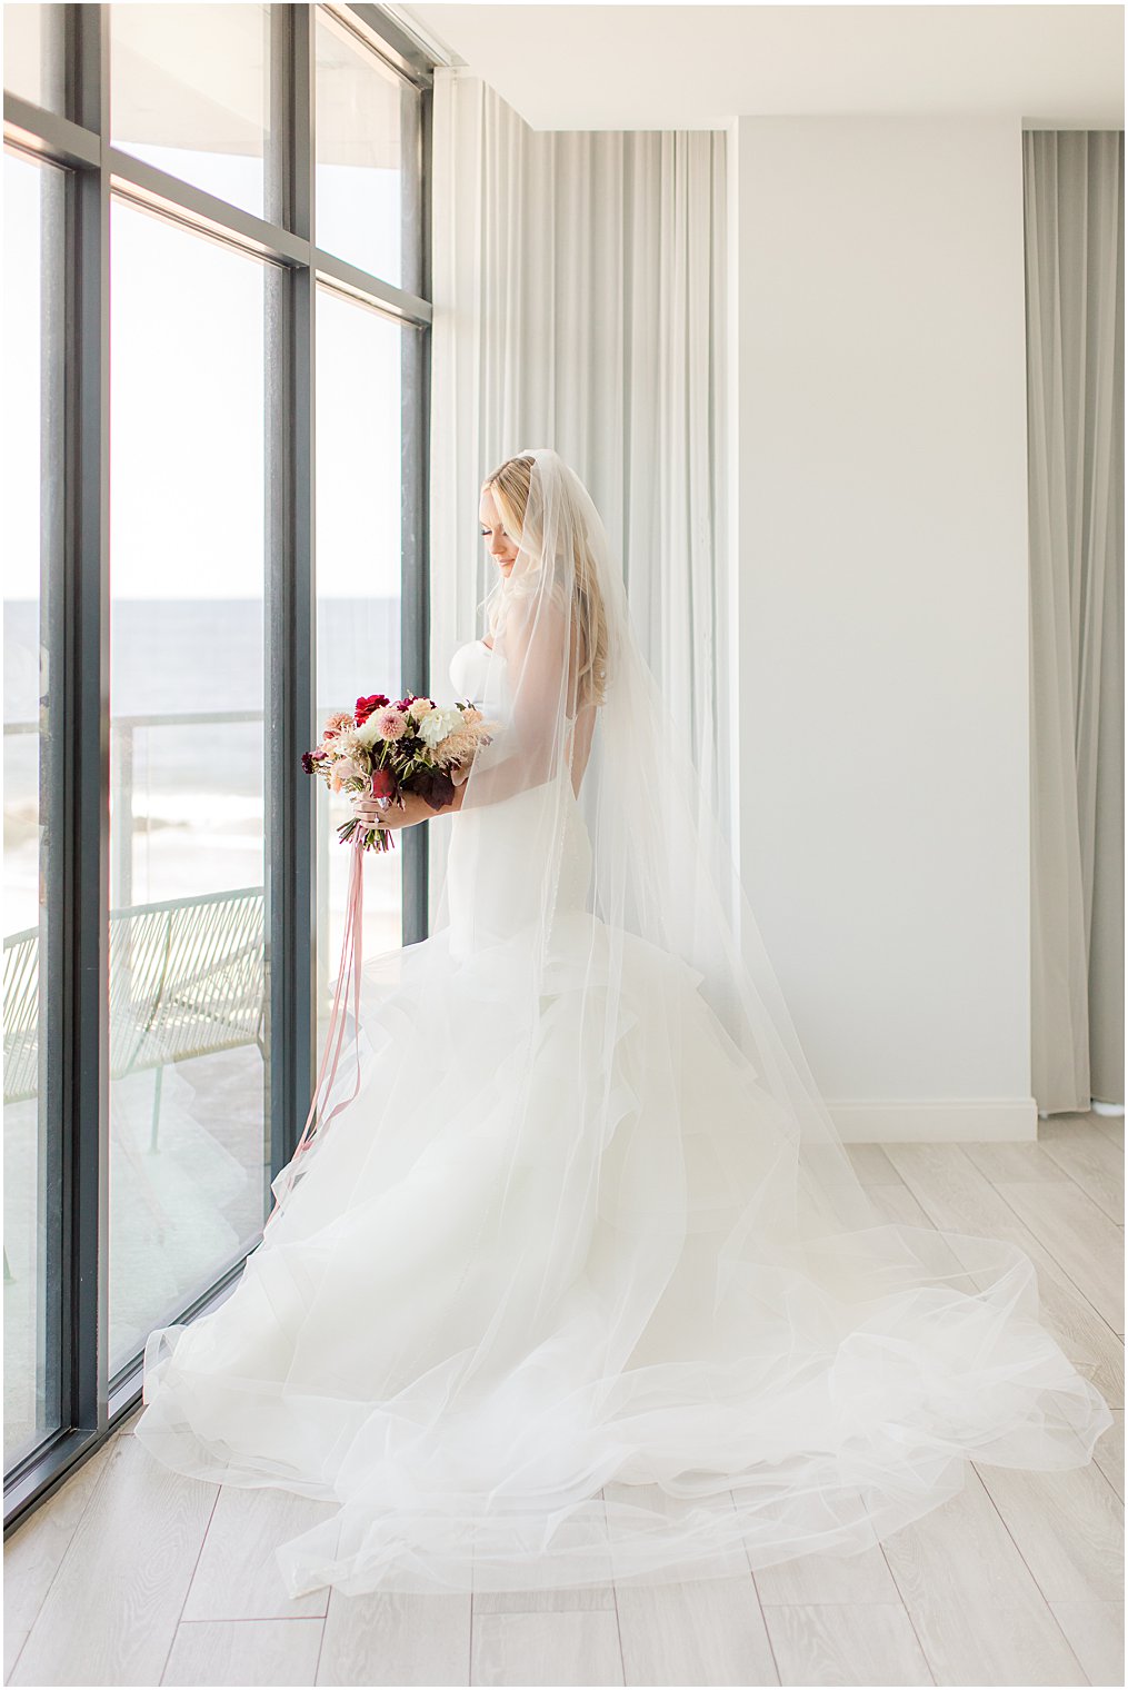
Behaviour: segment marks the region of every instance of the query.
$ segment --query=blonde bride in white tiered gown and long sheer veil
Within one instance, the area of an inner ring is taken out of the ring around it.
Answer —
[[[294,1597],[851,1555],[969,1460],[1084,1465],[1111,1413],[1030,1259],[860,1186],[583,483],[522,451],[480,517],[451,684],[500,727],[434,930],[361,967],[333,1119],[233,1295],[150,1333],[138,1442],[334,1502]]]

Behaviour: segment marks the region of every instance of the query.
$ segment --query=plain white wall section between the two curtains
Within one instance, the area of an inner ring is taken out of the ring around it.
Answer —
[[[1033,1137],[1020,122],[729,145],[745,886],[844,1137]]]

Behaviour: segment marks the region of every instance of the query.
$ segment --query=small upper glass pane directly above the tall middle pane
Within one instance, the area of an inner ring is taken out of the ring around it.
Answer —
[[[108,10],[113,145],[262,216],[270,7]]]

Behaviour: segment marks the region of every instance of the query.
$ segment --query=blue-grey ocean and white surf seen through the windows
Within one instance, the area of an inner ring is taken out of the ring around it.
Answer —
[[[317,615],[323,711],[400,686],[399,598],[324,600]],[[110,720],[196,711],[263,710],[263,603],[248,598],[113,600]],[[39,602],[3,605],[3,720],[39,718]],[[265,723],[137,727],[130,806],[132,901],[262,884]],[[312,749],[312,747],[309,747]],[[110,737],[111,782],[122,739]],[[299,762],[296,781],[311,779]],[[113,791],[113,788],[111,788]],[[113,803],[113,798],[111,798]],[[5,732],[5,933],[39,919],[39,733]],[[333,862],[333,904],[343,902],[344,857]],[[399,865],[370,875],[366,933],[392,931]],[[387,909],[385,909],[387,904]],[[370,926],[371,924],[371,926]],[[395,930],[399,931],[399,930]]]

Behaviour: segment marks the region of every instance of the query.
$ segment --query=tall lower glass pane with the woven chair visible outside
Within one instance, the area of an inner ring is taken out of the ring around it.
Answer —
[[[265,1218],[265,270],[111,204],[110,1369]]]

